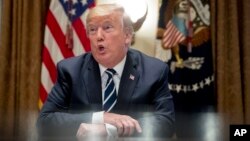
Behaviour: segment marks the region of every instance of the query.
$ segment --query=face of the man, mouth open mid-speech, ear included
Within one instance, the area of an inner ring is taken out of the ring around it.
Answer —
[[[132,37],[125,32],[120,13],[93,16],[87,30],[91,52],[98,63],[112,68],[125,57]]]

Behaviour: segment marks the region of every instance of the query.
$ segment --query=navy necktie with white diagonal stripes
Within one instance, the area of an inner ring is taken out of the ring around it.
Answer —
[[[117,94],[113,76],[116,74],[114,69],[107,69],[105,73],[108,75],[107,83],[104,89],[103,110],[109,112],[116,104]]]

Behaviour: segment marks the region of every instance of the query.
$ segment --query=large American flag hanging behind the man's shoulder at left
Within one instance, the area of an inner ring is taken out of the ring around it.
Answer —
[[[56,64],[90,51],[84,21],[94,0],[52,0],[47,13],[42,51],[39,108],[56,82]]]

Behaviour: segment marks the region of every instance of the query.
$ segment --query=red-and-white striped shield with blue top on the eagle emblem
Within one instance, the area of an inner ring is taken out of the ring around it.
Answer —
[[[172,48],[178,43],[182,42],[187,36],[187,28],[185,20],[177,16],[173,18],[166,25],[166,30],[163,34],[163,46],[165,48]]]

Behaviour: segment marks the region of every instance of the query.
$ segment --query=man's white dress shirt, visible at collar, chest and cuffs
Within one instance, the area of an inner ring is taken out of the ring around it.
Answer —
[[[122,72],[125,66],[125,62],[126,62],[126,58],[127,56],[125,56],[122,61],[120,63],[118,63],[113,69],[116,71],[116,74],[113,76],[113,80],[115,83],[115,87],[116,87],[116,92],[118,95],[118,91],[119,91],[119,85],[120,85],[120,80],[121,80],[121,76],[122,76]],[[99,64],[99,68],[100,68],[100,74],[101,74],[101,81],[102,81],[102,102],[104,101],[104,90],[105,90],[105,85],[106,82],[108,80],[108,75],[105,73],[106,67],[102,66],[101,64]],[[92,116],[92,123],[93,124],[102,124],[104,123],[104,119],[103,119],[103,114],[104,111],[100,111],[100,112],[94,112],[93,116]],[[104,123],[106,126],[106,131],[108,133],[108,136],[113,136],[113,137],[117,137],[117,128],[111,124],[108,123]]]

